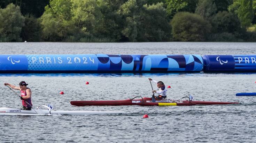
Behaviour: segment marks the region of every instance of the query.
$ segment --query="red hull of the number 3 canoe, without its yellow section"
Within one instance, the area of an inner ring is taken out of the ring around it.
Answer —
[[[102,101],[70,101],[71,105],[75,106],[120,106],[120,105],[140,105],[140,106],[158,106],[158,102],[151,101],[151,98],[143,97],[142,99],[126,99],[126,100],[102,100]],[[214,104],[238,104],[238,102],[213,102],[213,101],[183,101],[177,103],[177,106],[191,105],[214,105]]]

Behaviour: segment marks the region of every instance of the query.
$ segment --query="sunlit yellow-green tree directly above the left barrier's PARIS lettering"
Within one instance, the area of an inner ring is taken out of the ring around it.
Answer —
[[[45,12],[40,18],[42,37],[46,41],[66,41],[77,33],[71,18],[72,1],[50,0],[50,5],[45,7]]]

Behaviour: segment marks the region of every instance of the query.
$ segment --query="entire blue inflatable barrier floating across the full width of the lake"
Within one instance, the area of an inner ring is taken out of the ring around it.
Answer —
[[[256,72],[256,55],[0,55],[0,72]]]

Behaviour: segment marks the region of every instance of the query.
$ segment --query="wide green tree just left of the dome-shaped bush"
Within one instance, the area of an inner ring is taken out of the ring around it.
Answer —
[[[123,40],[132,42],[170,41],[171,26],[163,3],[147,5],[129,0],[118,11],[124,21]]]

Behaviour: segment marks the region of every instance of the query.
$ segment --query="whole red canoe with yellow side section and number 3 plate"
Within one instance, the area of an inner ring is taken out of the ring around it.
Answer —
[[[137,96],[141,97],[141,96]],[[134,98],[137,98],[134,97]],[[140,105],[140,106],[191,106],[191,105],[214,105],[214,104],[238,104],[239,102],[214,102],[214,101],[194,101],[194,100],[162,100],[156,99],[152,102],[152,98],[141,97],[140,99],[126,100],[101,100],[101,101],[70,101],[75,106],[118,106],[118,105]]]

